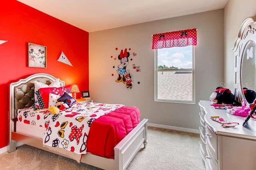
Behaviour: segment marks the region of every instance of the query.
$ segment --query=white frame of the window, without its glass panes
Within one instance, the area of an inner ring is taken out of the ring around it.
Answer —
[[[183,103],[195,104],[195,46],[192,45],[192,68],[180,69],[158,69],[158,49],[154,49],[155,62],[154,62],[154,101],[155,102],[170,102],[170,103]],[[163,100],[158,99],[158,72],[159,71],[192,71],[192,101],[187,100]]]

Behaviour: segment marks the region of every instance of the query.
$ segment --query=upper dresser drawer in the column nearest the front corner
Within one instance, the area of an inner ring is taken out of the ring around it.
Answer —
[[[212,156],[218,160],[218,140],[217,135],[206,125],[206,149],[208,148]]]

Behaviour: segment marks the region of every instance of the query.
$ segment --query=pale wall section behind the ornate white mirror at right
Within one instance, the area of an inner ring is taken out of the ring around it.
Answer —
[[[234,82],[234,53],[232,49],[238,30],[245,18],[256,16],[256,0],[229,0],[224,8],[224,81]]]

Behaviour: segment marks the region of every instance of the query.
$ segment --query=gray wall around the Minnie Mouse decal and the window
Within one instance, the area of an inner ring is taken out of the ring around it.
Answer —
[[[198,129],[198,102],[209,100],[212,91],[224,79],[223,16],[224,10],[214,10],[89,33],[89,86],[94,102],[137,106],[141,117],[148,118],[149,123]],[[195,48],[196,104],[154,102],[152,35],[192,28],[198,29],[198,45]],[[137,53],[129,64],[140,65],[141,72],[132,72],[132,89],[115,82],[116,68],[112,66],[120,63],[118,59],[113,59],[120,53],[120,50],[115,50],[116,47],[131,48]],[[111,76],[112,73],[114,76]],[[140,84],[137,84],[138,81]]]

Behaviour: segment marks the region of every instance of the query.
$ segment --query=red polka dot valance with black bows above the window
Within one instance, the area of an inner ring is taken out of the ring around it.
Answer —
[[[196,29],[173,31],[153,35],[152,49],[196,45]]]

